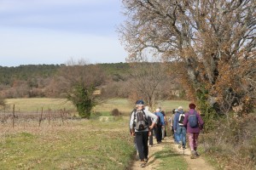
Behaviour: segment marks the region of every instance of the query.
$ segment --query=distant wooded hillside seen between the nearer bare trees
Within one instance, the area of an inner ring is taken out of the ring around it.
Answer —
[[[67,65],[20,65],[0,66],[1,98],[65,97],[65,83],[61,79],[61,68]],[[91,66],[91,65],[86,65]],[[94,65],[95,66],[95,65]],[[129,98],[131,91],[131,64],[96,64],[102,70],[99,90],[104,97]],[[87,74],[87,73],[85,73]],[[89,73],[88,74],[93,74]],[[93,76],[93,75],[92,75]],[[177,78],[160,83],[158,99],[183,98],[184,90]]]

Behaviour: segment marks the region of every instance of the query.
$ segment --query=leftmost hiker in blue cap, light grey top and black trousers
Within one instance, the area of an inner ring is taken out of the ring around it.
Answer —
[[[146,167],[146,163],[148,162],[148,130],[151,130],[154,127],[154,124],[157,121],[157,116],[148,110],[144,110],[143,106],[143,100],[137,100],[137,109],[131,113],[130,128],[133,129],[131,131],[131,136],[135,135],[141,167]],[[149,126],[148,119],[150,117],[153,118],[153,122]]]

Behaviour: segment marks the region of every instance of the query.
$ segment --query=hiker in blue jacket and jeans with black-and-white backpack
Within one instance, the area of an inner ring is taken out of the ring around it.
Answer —
[[[183,107],[179,106],[177,108],[177,113],[174,116],[173,121],[173,130],[174,133],[177,133],[177,143],[178,148],[183,147],[183,150],[186,149],[186,127],[183,126],[183,121],[185,118],[185,113]]]

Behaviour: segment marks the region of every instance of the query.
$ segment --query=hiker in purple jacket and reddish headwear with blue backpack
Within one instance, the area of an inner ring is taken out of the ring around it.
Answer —
[[[197,152],[197,140],[204,125],[200,114],[195,111],[195,104],[189,104],[189,111],[185,114],[183,125],[187,127],[187,133],[189,135],[190,158],[195,159],[199,156]]]

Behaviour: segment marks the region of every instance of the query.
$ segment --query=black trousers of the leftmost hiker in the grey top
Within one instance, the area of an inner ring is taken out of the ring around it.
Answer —
[[[135,139],[140,159],[148,158],[148,131],[136,132]]]

